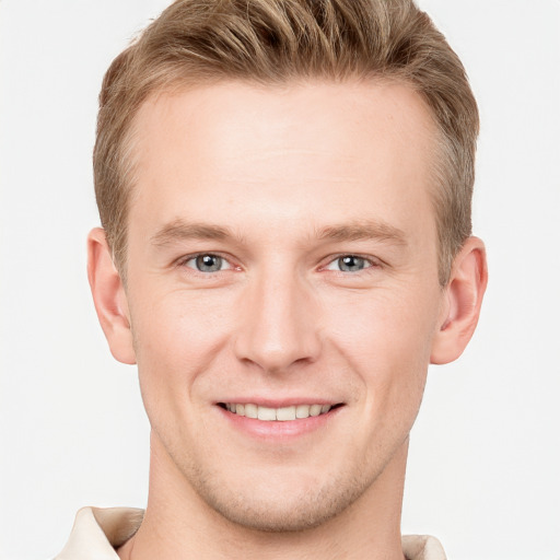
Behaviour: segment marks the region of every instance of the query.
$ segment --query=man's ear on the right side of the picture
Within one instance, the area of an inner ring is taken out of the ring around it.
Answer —
[[[431,363],[453,362],[463,353],[475,332],[487,283],[485,244],[469,237],[453,261]]]

